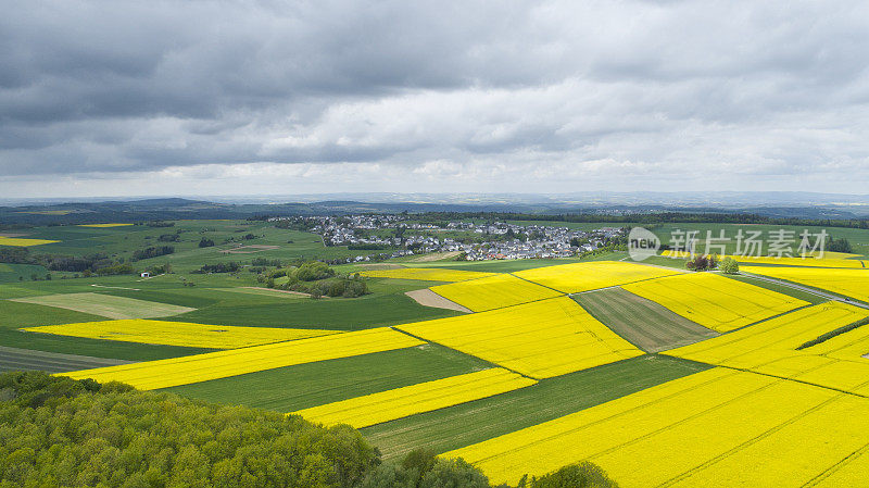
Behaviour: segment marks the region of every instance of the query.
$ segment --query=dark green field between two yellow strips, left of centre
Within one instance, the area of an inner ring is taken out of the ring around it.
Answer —
[[[268,370],[165,391],[217,403],[293,412],[490,366],[461,352],[426,345]]]

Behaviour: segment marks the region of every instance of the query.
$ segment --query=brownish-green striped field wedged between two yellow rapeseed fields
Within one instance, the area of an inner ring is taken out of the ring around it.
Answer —
[[[718,334],[621,288],[575,295],[595,318],[646,352],[688,346]]]

